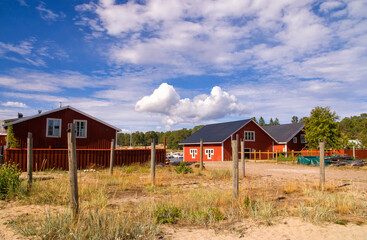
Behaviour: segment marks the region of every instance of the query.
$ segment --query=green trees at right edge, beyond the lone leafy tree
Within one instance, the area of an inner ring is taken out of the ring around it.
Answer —
[[[362,147],[367,147],[367,113],[360,116],[346,117],[340,122],[340,131],[350,139],[358,139],[362,143]],[[358,146],[357,146],[358,147]]]

